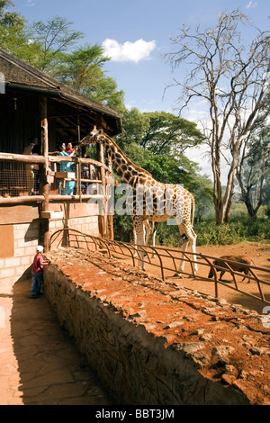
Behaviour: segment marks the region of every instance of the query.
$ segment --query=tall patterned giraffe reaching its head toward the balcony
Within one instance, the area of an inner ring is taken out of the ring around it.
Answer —
[[[157,182],[147,170],[134,165],[116,142],[103,130],[97,130],[94,127],[90,134],[81,139],[78,147],[96,142],[103,144],[106,154],[112,158],[112,163],[121,182],[129,187],[129,193],[126,196],[126,210],[130,212],[133,221],[137,244],[145,245],[144,225],[148,227],[147,220],[160,222],[173,217],[178,225],[180,235],[184,238],[183,251],[186,251],[189,242],[191,244],[193,270],[196,273],[198,266],[196,263],[196,234],[193,230],[195,207],[193,194],[180,184]],[[139,252],[139,267],[144,269],[142,252]],[[182,272],[184,272],[183,259],[175,275],[181,277]]]

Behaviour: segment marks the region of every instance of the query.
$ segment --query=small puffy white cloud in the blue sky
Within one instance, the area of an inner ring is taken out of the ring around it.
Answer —
[[[139,60],[150,58],[150,53],[156,47],[156,41],[145,41],[139,39],[137,41],[125,41],[120,44],[116,40],[107,38],[103,41],[103,49],[106,54],[114,61],[129,61],[138,63]]]

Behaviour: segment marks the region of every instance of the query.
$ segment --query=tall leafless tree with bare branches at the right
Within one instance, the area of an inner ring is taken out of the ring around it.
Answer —
[[[241,24],[243,29],[248,26],[248,37],[252,31],[255,34],[248,45],[239,31]],[[183,26],[173,40],[175,51],[166,54],[173,67],[184,64],[187,70],[184,82],[175,78],[170,85],[181,87],[184,103],[180,113],[193,100],[207,102],[209,114],[204,128],[211,155],[217,224],[229,220],[238,160],[266,96],[269,40],[269,32],[259,31],[236,10],[220,14],[214,28],[202,31],[198,25],[193,31]],[[265,112],[269,112],[269,103]],[[221,183],[222,157],[229,169],[225,190]]]

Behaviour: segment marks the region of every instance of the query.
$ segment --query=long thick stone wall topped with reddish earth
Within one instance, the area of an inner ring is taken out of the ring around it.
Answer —
[[[269,333],[256,312],[98,253],[48,257],[46,296],[119,404],[270,403]]]

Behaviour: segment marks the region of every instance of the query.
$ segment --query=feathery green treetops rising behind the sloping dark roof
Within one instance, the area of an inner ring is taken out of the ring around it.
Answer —
[[[110,58],[104,55],[102,46],[86,44],[76,48],[84,34],[59,16],[46,23],[38,21],[26,26],[16,12],[4,13],[4,7],[11,5],[10,0],[0,0],[3,49],[95,101],[124,112],[123,91],[117,90],[116,81],[103,71],[104,63]]]

